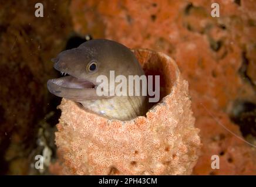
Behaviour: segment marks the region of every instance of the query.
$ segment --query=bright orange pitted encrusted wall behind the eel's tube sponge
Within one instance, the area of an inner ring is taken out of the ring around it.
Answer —
[[[70,12],[75,30],[81,34],[162,51],[177,61],[190,84],[196,127],[204,144],[194,174],[256,174],[255,149],[218,125],[207,112],[241,136],[228,109],[237,99],[256,101],[256,4],[214,1],[220,4],[220,18],[212,18],[212,2],[78,0],[72,1]],[[81,6],[87,11],[79,9]],[[248,61],[247,75],[254,87],[240,74],[243,58]],[[215,171],[211,168],[213,154],[220,155],[221,167]]]

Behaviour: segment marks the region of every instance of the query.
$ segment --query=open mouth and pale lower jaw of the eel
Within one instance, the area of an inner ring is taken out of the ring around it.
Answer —
[[[61,72],[66,74],[66,72]],[[50,93],[73,101],[85,101],[91,99],[102,99],[96,93],[97,85],[85,79],[79,79],[68,75],[61,78],[49,79],[47,87]]]

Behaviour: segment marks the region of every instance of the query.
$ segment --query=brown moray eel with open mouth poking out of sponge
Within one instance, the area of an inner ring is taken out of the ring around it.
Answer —
[[[130,120],[146,113],[146,96],[98,96],[96,78],[106,75],[144,75],[136,57],[126,46],[111,40],[89,40],[75,49],[62,51],[52,59],[54,68],[68,76],[49,79],[49,92],[82,104],[89,112],[109,119]],[[119,83],[112,82],[115,86]],[[111,83],[109,83],[111,85]],[[127,91],[128,91],[127,84]],[[141,87],[140,87],[141,88]],[[107,90],[107,92],[110,92]]]

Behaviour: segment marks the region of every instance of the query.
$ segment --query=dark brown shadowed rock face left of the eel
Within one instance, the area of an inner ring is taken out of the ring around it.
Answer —
[[[38,174],[37,131],[55,110],[46,81],[49,59],[65,47],[72,27],[69,1],[43,1],[45,17],[35,17],[36,1],[0,2],[0,174]],[[46,9],[47,7],[47,9]],[[53,98],[53,99],[52,99]],[[57,101],[58,102],[58,101]],[[46,123],[46,122],[45,122]],[[54,125],[55,123],[52,123]]]

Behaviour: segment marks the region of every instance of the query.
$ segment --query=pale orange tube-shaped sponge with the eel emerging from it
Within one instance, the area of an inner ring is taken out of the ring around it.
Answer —
[[[160,75],[160,102],[146,116],[109,120],[62,99],[56,145],[64,174],[189,175],[200,152],[188,83],[163,53],[133,50],[146,75]]]

